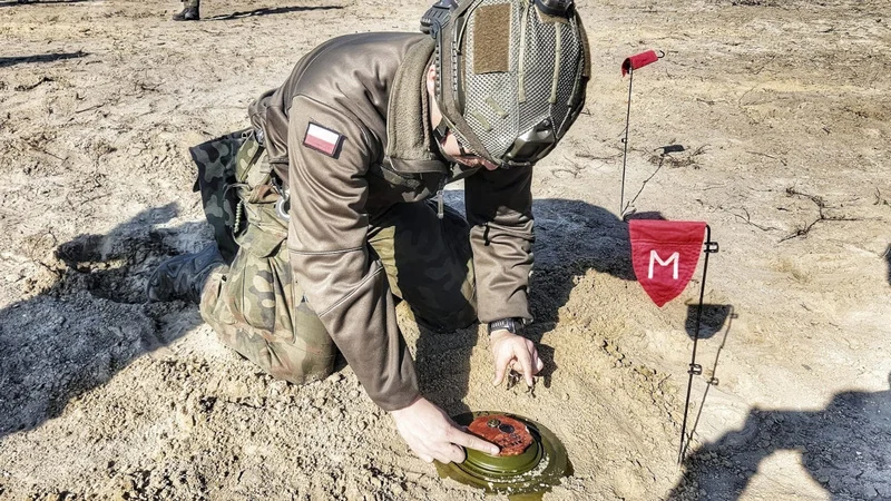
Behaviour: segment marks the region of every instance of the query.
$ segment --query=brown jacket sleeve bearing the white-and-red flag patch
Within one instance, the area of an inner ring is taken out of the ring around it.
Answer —
[[[332,155],[307,146],[311,122],[337,135]],[[408,406],[420,394],[414,363],[366,242],[363,176],[379,147],[351,115],[305,96],[292,102],[287,136],[294,278],[369,396],[385,411]]]

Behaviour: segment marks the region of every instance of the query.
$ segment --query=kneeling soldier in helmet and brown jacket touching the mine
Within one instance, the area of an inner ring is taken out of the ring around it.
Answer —
[[[148,295],[199,302],[294,383],[339,350],[412,450],[449,462],[498,449],[420,394],[395,297],[442,330],[488,323],[496,381],[532,384],[532,166],[581,111],[589,55],[566,0],[443,0],[422,24],[321,45],[251,105],[251,129],[193,148],[219,252],[163,264]],[[459,179],[467,219],[442,203]]]

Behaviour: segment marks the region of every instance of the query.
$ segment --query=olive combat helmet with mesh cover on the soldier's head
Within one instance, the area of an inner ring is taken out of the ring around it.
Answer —
[[[439,0],[421,20],[435,40],[439,137],[501,167],[550,153],[585,105],[590,52],[572,0]]]

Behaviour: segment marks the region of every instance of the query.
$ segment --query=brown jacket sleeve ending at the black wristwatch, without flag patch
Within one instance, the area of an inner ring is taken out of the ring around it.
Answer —
[[[531,320],[532,168],[480,169],[464,180],[470,245],[482,323]]]

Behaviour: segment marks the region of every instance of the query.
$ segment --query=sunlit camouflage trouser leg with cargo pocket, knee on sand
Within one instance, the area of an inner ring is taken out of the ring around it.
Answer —
[[[276,214],[280,194],[263,148],[248,138],[235,164],[226,191],[237,194],[236,252],[228,271],[205,287],[202,316],[221,341],[275,377],[293,383],[325,377],[336,348],[292,277],[287,222]]]

